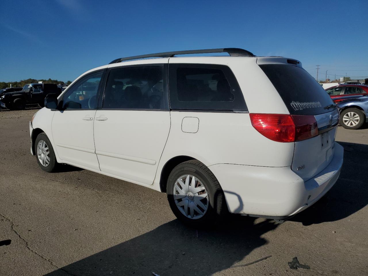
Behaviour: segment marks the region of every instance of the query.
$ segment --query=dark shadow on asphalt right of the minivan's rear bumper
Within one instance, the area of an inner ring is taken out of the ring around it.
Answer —
[[[368,145],[338,142],[344,147],[344,163],[331,190],[292,221],[311,225],[343,219],[368,204]]]

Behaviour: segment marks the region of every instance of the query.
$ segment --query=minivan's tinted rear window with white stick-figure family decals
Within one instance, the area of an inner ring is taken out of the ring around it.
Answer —
[[[322,86],[303,68],[287,64],[259,65],[279,92],[292,115],[318,115],[333,101]]]

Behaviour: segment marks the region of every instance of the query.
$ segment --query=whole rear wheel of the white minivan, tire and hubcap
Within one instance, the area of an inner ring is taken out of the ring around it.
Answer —
[[[227,211],[219,182],[197,160],[178,164],[169,175],[166,191],[174,215],[193,227],[210,226]]]

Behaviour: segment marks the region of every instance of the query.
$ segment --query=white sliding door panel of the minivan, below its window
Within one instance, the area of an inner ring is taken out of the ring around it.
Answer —
[[[103,173],[152,185],[170,130],[169,111],[98,110],[96,154]]]

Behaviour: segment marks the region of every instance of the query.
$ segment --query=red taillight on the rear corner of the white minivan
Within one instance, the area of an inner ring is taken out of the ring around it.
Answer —
[[[314,116],[250,113],[253,127],[276,142],[296,142],[318,135]]]

